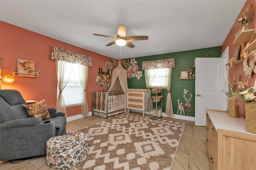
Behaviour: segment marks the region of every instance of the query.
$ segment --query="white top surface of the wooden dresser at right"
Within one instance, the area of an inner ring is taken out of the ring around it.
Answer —
[[[241,118],[229,117],[228,113],[223,111],[218,112],[218,111],[207,109],[206,112],[208,113],[212,121],[212,124],[214,125],[216,130],[220,128],[224,130],[254,134],[256,136],[255,133],[250,133],[246,131],[246,122]]]

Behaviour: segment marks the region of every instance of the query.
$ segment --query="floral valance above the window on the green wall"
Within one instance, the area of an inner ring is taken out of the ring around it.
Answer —
[[[175,68],[174,58],[142,62],[142,70],[165,69],[165,68],[172,68],[172,69]]]

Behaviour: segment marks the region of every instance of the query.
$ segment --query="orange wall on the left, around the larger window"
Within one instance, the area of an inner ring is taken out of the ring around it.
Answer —
[[[2,83],[2,89],[16,89],[25,100],[40,101],[45,99],[47,107],[55,107],[57,98],[57,76],[55,61],[50,59],[51,47],[60,47],[92,57],[89,67],[87,97],[89,111],[92,111],[92,92],[101,91],[96,85],[98,67],[105,65],[109,57],[64,43],[41,34],[0,21],[0,57],[3,67],[12,66],[17,72],[17,59],[35,62],[35,69],[41,70],[39,76],[14,77],[14,83]],[[3,76],[8,69],[4,69]],[[81,106],[67,107],[67,116],[80,115]]]

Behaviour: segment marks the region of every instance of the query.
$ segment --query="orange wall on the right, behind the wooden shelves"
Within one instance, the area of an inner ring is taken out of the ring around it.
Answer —
[[[250,23],[249,28],[250,29],[254,29],[255,28],[255,9],[256,9],[256,2],[255,0],[247,0],[246,3],[244,4],[244,7],[241,10],[241,13],[243,13],[249,6],[250,4],[253,5],[253,9],[254,9],[254,18],[252,23]],[[241,15],[238,16],[238,18],[240,18]],[[236,22],[234,23],[234,26],[231,28],[228,36],[226,37],[226,40],[224,41],[224,43],[222,44],[222,52],[226,49],[226,47],[228,46],[229,50],[228,50],[228,58],[231,59],[234,56],[234,51],[236,49],[236,47],[238,47],[239,44],[233,44],[234,39],[235,39],[235,34],[242,29],[242,24],[237,24]],[[252,40],[250,40],[250,42],[252,42],[253,40],[256,39],[256,36],[254,36],[254,38],[252,38]],[[253,60],[253,56],[251,55],[250,57],[248,57],[248,64],[250,63],[251,60]],[[256,78],[256,73],[252,73],[252,77],[249,79],[248,77],[245,76],[244,70],[243,70],[243,63],[240,63],[238,65],[235,65],[234,67],[230,68],[230,71],[233,75],[233,73],[235,72],[235,76],[237,77],[236,80],[238,80],[238,77],[241,75],[241,81],[248,81],[249,83],[254,83],[255,78]],[[232,83],[233,83],[233,77],[232,77]],[[240,115],[242,115],[243,117],[245,117],[245,113],[244,113],[244,107],[240,107],[239,108],[239,112]]]

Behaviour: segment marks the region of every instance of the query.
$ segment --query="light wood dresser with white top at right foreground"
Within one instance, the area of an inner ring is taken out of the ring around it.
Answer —
[[[256,169],[256,134],[227,111],[206,109],[206,148],[212,170]]]

